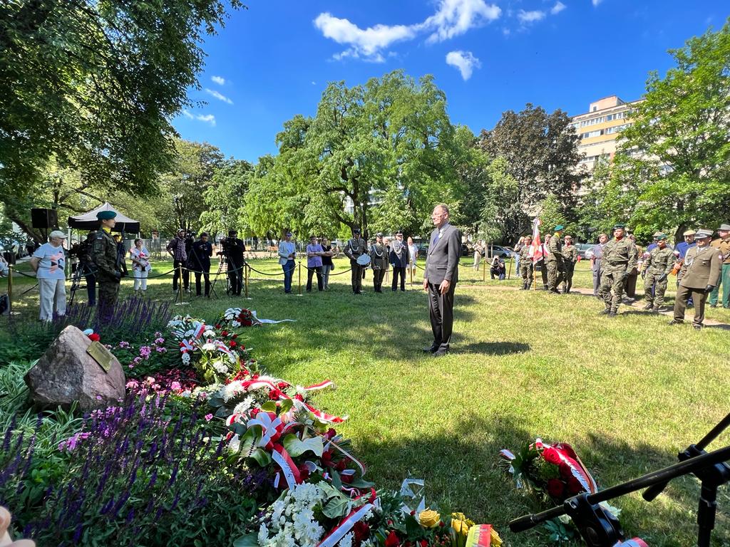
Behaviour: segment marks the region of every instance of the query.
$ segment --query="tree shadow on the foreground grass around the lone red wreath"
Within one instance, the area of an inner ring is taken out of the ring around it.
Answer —
[[[475,521],[493,524],[509,545],[537,547],[550,544],[542,526],[515,534],[510,532],[509,522],[544,511],[550,504],[515,488],[510,475],[499,465],[499,451],[518,451],[538,435],[522,427],[514,416],[470,414],[447,432],[396,440],[374,435],[356,440],[354,448],[369,462],[370,480],[397,488],[407,476],[423,478],[426,503],[431,508],[464,511]],[[602,488],[675,462],[675,454],[669,449],[646,443],[630,446],[626,441],[601,435],[588,434],[588,441],[583,443],[569,438],[545,441],[572,443]],[[694,544],[697,491],[696,481],[687,478],[669,486],[666,493],[670,503],[647,504],[638,498],[639,494],[632,494],[612,501],[612,505],[621,508],[621,523],[629,537],[642,537],[650,545],[680,547]],[[726,516],[718,516],[715,536],[716,540],[730,540]]]

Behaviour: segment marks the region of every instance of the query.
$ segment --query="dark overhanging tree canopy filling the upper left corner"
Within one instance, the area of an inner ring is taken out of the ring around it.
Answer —
[[[39,182],[50,158],[96,185],[153,190],[226,5],[242,4],[0,2],[0,194]]]

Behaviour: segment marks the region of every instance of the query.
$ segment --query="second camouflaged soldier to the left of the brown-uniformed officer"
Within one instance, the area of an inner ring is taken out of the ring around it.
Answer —
[[[603,249],[603,272],[598,294],[606,304],[606,309],[601,314],[608,314],[608,317],[616,316],[626,278],[636,268],[639,260],[637,248],[631,239],[626,238],[623,228],[623,224],[613,227],[613,239]]]

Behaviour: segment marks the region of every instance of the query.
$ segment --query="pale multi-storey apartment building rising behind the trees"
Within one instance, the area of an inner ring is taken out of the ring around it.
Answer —
[[[571,125],[580,136],[578,152],[585,154],[581,168],[590,172],[600,158],[613,158],[619,134],[631,125],[631,109],[642,100],[627,103],[612,95],[592,102],[585,114],[572,117]]]

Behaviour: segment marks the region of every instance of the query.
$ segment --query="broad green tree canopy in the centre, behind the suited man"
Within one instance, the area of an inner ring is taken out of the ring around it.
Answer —
[[[429,76],[416,82],[394,71],[353,88],[332,83],[317,115],[288,121],[279,155],[257,169],[246,199],[250,224],[259,233],[340,223],[364,233],[418,230],[435,201],[458,197],[454,133]]]

